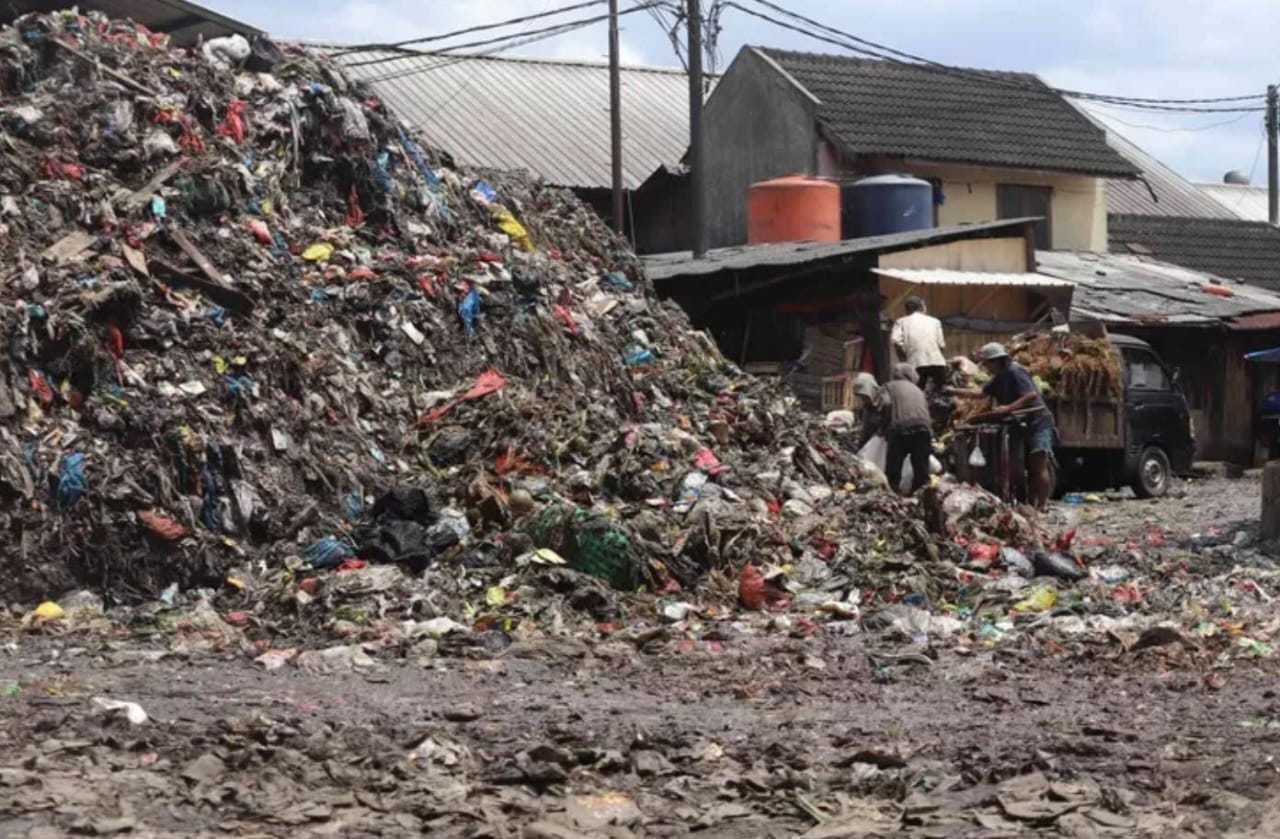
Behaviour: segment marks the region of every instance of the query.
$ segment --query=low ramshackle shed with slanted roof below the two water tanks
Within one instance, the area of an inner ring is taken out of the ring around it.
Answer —
[[[849,373],[884,378],[891,318],[904,314],[908,295],[925,298],[956,354],[1016,334],[1055,309],[1065,316],[1070,283],[1034,270],[1037,222],[748,245],[701,257],[684,251],[645,256],[644,264],[658,295],[680,304],[730,360],[788,375],[815,409],[844,407],[851,396],[838,387]],[[851,355],[823,366],[841,347]]]

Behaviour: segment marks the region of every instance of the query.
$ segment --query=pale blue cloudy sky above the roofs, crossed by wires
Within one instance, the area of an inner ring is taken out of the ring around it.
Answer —
[[[1280,83],[1280,4],[1274,0],[773,0],[829,27],[936,61],[1024,70],[1070,90],[1148,99],[1262,95]],[[636,0],[621,0],[621,8]],[[710,0],[703,0],[704,6]],[[401,41],[540,14],[571,0],[204,0],[282,38],[337,44]],[[754,5],[742,0],[742,5]],[[603,6],[456,42],[600,14]],[[764,10],[764,9],[762,9]],[[772,13],[769,13],[772,14]],[[773,15],[777,17],[777,15]],[[444,44],[448,44],[444,42]],[[840,53],[840,47],[727,9],[721,69],[742,45]],[[512,50],[512,55],[603,60],[604,24]],[[678,67],[671,40],[645,12],[622,18],[623,63]],[[1257,102],[1244,102],[1252,106]],[[1261,113],[1149,113],[1092,108],[1111,128],[1193,181],[1229,169],[1266,183]]]

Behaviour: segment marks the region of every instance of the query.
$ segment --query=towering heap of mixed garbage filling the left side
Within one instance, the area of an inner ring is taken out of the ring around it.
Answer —
[[[927,550],[590,210],[457,169],[324,56],[76,12],[0,53],[8,598]]]

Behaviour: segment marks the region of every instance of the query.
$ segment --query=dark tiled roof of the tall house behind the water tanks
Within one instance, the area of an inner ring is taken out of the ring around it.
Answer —
[[[1029,73],[759,53],[820,102],[824,132],[846,154],[1116,177],[1135,173],[1107,146],[1100,128]]]

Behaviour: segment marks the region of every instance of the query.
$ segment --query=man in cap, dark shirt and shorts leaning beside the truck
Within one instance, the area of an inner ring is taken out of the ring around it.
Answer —
[[[1037,510],[1043,510],[1053,489],[1048,468],[1048,459],[1053,456],[1053,446],[1057,444],[1053,414],[1044,405],[1044,397],[1041,396],[1030,373],[1009,357],[1004,345],[988,343],[978,351],[978,360],[991,374],[991,380],[980,391],[950,388],[948,392],[964,398],[989,396],[996,403],[996,409],[991,412],[997,416],[1024,412],[1028,501]]]

